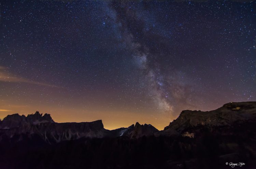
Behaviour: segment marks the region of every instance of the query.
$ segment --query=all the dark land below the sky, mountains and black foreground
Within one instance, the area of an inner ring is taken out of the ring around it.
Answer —
[[[253,169],[255,134],[256,102],[182,111],[163,131],[139,123],[110,131],[101,120],[56,123],[39,112],[14,114],[0,122],[0,168]]]

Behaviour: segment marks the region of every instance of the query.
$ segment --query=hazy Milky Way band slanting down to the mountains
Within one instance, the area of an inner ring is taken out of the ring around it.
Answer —
[[[176,75],[179,72],[176,72],[174,63],[167,63],[166,66],[159,61],[159,57],[168,59],[173,55],[171,52],[162,54],[165,50],[170,51],[170,46],[162,43],[165,37],[155,34],[154,24],[152,26],[145,23],[145,18],[140,17],[140,12],[131,8],[134,3],[114,2],[111,5],[117,13],[116,21],[120,23],[124,40],[133,52],[134,62],[143,71],[145,79],[142,81],[145,81],[148,96],[155,101],[160,110],[170,114],[174,112],[175,107],[187,108],[187,105],[190,105],[191,84],[180,78],[182,74]],[[148,11],[144,15],[149,15]]]

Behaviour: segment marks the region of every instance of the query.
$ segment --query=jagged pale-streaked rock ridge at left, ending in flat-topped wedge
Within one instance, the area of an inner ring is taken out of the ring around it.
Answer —
[[[56,143],[64,140],[74,140],[82,137],[102,138],[108,134],[101,120],[93,122],[56,123],[49,114],[35,114],[27,117],[18,114],[8,115],[0,122],[0,141],[2,137],[23,140],[39,136],[47,143]]]

